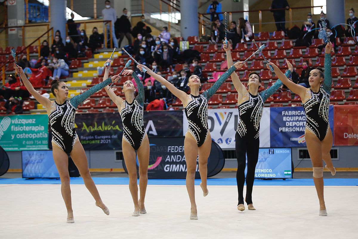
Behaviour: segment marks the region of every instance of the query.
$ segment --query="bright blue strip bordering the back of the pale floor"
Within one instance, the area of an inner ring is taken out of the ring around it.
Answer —
[[[93,177],[96,184],[104,185],[128,185],[127,177]],[[0,184],[60,184],[55,178],[0,178]],[[199,185],[200,180],[195,180]],[[71,178],[71,184],[83,184],[82,178]],[[185,179],[149,179],[148,185],[185,185]],[[211,186],[235,186],[236,178],[208,178]],[[312,178],[293,178],[287,180],[260,180],[254,182],[256,186],[314,186]],[[358,186],[358,178],[327,178],[325,186]]]

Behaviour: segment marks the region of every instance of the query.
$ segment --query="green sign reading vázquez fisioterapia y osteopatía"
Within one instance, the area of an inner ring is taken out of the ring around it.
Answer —
[[[48,149],[48,116],[0,117],[0,145],[5,151]]]

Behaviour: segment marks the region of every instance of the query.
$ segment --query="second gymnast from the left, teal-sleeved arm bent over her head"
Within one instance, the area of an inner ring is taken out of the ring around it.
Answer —
[[[106,62],[105,74],[103,79],[108,77],[111,61]],[[117,105],[123,123],[122,152],[129,175],[129,190],[134,202],[134,212],[132,216],[139,216],[147,213],[144,207],[145,192],[148,183],[148,164],[149,164],[149,140],[143,124],[143,103],[144,89],[141,80],[132,70],[125,70],[122,75],[132,75],[138,87],[138,96],[135,97],[135,87],[132,81],[126,81],[123,90],[126,99],[116,96],[113,90],[106,86],[105,90],[111,100]],[[138,200],[137,186],[137,166],[136,151],[139,162],[139,190],[140,199]]]

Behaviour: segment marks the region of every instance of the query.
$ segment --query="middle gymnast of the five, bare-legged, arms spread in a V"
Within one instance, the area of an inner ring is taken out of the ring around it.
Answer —
[[[190,87],[190,95],[188,95],[184,91],[177,89],[163,77],[151,71],[148,67],[144,65],[138,65],[138,67],[141,71],[145,68],[150,76],[165,85],[171,93],[183,102],[185,114],[189,121],[189,129],[184,139],[184,155],[187,163],[186,185],[191,204],[190,219],[198,219],[194,189],[198,154],[199,173],[202,181],[200,187],[202,187],[204,197],[207,196],[209,192],[207,188],[207,164],[211,150],[211,136],[208,129],[208,100],[216,93],[224,81],[229,78],[231,73],[239,67],[239,64],[235,63],[231,66],[210,89],[204,91],[201,95],[199,94],[201,83],[197,75],[189,77],[188,86]]]

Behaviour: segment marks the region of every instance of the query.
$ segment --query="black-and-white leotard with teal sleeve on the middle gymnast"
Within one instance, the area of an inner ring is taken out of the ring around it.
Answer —
[[[214,85],[204,91],[203,94],[198,96],[188,95],[188,104],[184,108],[185,115],[189,122],[188,132],[193,135],[198,147],[203,145],[208,135],[208,100],[235,70],[236,68],[231,66]]]

